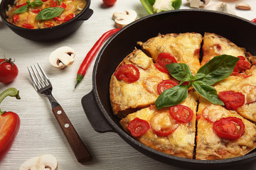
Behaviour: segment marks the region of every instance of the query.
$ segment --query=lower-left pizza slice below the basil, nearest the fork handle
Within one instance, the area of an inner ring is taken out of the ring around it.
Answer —
[[[181,104],[143,108],[122,118],[120,124],[136,140],[159,152],[193,158],[198,95],[192,90]]]

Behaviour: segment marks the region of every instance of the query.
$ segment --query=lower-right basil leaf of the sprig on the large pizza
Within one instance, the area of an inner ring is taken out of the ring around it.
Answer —
[[[220,100],[218,93],[213,86],[210,86],[204,81],[193,81],[192,86],[198,94],[206,98],[210,103],[224,106],[223,101]]]

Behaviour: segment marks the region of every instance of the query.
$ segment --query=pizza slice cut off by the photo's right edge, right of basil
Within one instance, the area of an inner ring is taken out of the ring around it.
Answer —
[[[256,67],[214,85],[225,108],[256,123]]]

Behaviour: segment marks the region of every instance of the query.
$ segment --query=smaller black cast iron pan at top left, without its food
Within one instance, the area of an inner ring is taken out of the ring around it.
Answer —
[[[14,33],[20,35],[23,38],[27,38],[29,40],[36,41],[50,41],[50,40],[58,40],[60,38],[64,38],[65,36],[70,35],[75,30],[77,30],[83,21],[86,21],[90,16],[92,16],[92,9],[90,9],[90,0],[86,0],[87,4],[85,8],[75,16],[75,18],[71,19],[66,23],[62,23],[58,26],[54,26],[51,28],[43,28],[43,29],[28,29],[21,28],[18,26],[14,26],[9,23],[6,18],[6,10],[9,8],[8,5],[13,5],[14,0],[2,0],[0,5],[0,16],[2,21],[9,26]]]

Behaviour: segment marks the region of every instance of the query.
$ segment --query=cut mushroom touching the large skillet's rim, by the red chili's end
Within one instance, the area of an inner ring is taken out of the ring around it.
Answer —
[[[137,19],[137,12],[133,10],[124,10],[122,13],[116,12],[113,13],[112,19],[117,28],[123,28]]]

